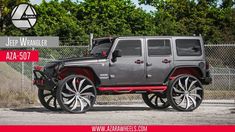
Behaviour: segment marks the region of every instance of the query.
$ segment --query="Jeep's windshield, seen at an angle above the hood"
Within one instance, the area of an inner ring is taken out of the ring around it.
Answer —
[[[98,38],[93,40],[91,55],[95,57],[106,57],[113,44],[114,38]]]

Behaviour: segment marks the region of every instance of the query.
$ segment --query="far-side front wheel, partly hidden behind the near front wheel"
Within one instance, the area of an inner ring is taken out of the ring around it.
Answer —
[[[40,103],[48,110],[60,111],[61,108],[56,99],[56,92],[54,90],[38,89],[38,98]]]

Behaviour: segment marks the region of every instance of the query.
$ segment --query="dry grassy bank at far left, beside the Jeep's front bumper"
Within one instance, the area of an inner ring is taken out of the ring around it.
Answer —
[[[37,102],[36,92],[31,88],[31,79],[3,62],[0,63],[0,75],[0,107],[22,107]]]

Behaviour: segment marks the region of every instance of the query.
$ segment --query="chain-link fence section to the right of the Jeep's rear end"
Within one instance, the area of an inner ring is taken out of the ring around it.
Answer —
[[[234,100],[235,44],[206,45],[205,52],[212,77],[212,84],[205,86],[205,98],[218,102]]]

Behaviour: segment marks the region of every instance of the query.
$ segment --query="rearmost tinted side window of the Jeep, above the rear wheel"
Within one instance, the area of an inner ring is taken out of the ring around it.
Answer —
[[[176,48],[178,56],[201,56],[201,45],[198,39],[177,39]]]

